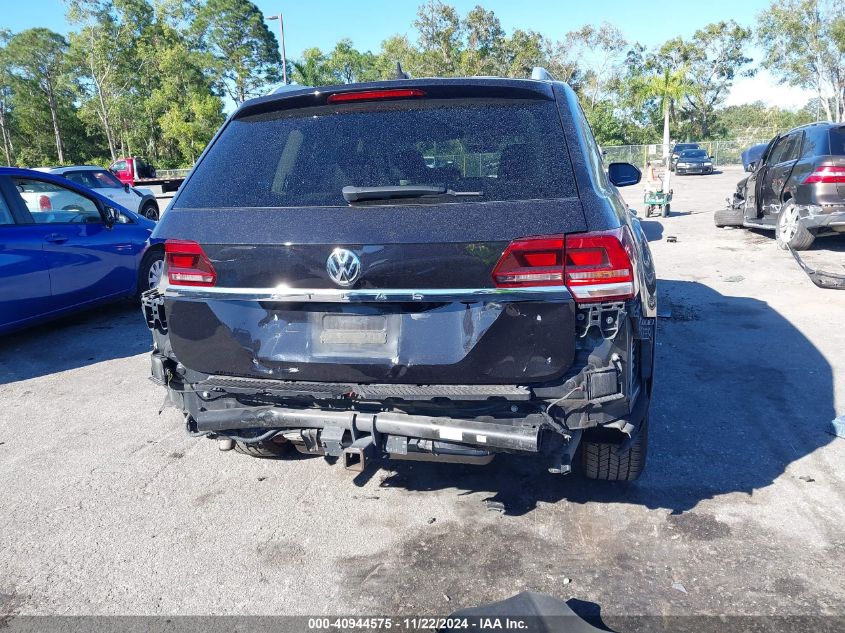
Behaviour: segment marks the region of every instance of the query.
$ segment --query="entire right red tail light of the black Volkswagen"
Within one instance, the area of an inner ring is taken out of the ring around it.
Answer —
[[[581,303],[621,301],[636,294],[628,229],[527,237],[511,242],[496,267],[498,288],[566,286]]]

